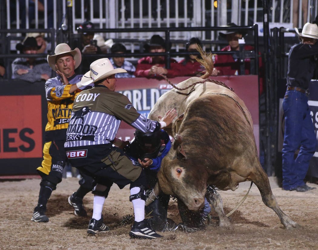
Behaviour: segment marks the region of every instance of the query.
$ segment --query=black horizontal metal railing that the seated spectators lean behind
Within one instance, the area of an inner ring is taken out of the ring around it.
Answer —
[[[206,31],[206,30],[213,30],[214,32],[219,31],[219,30],[231,30],[232,27],[181,27],[181,28],[137,28],[137,29],[131,29],[131,28],[125,28],[125,29],[91,29],[90,31],[92,32],[98,32],[98,33],[148,33],[148,34],[158,34],[158,33],[162,33],[163,38],[166,41],[167,44],[167,51],[164,53],[151,53],[151,55],[163,55],[166,58],[166,67],[170,68],[170,58],[171,57],[184,57],[187,54],[195,54],[193,52],[187,52],[185,51],[185,43],[187,41],[185,40],[173,40],[171,39],[171,34],[173,34],[174,32],[190,32],[190,31]],[[245,68],[245,60],[244,58],[251,58],[251,62],[252,62],[252,66],[251,66],[251,73],[252,74],[258,74],[258,62],[259,60],[256,60],[256,58],[259,57],[259,46],[258,46],[258,27],[257,25],[253,25],[253,26],[241,26],[241,27],[237,27],[237,30],[242,30],[242,31],[250,31],[253,33],[252,37],[253,39],[249,41],[248,44],[253,45],[254,46],[254,50],[253,51],[240,51],[239,55],[239,61],[241,64],[242,68]],[[83,29],[82,31],[86,31],[85,29]],[[57,42],[53,39],[53,37],[55,36],[55,30],[54,29],[19,29],[19,30],[14,30],[14,29],[10,29],[10,30],[0,30],[0,37],[1,37],[1,42],[3,44],[2,46],[2,51],[1,51],[1,56],[4,59],[5,62],[5,68],[8,69],[6,72],[6,75],[4,76],[4,78],[10,79],[11,78],[11,62],[13,61],[13,58],[16,57],[29,57],[30,55],[24,55],[24,54],[17,54],[16,51],[11,51],[10,50],[10,42],[21,42],[21,37],[16,37],[16,36],[11,36],[11,34],[16,34],[16,33],[26,33],[26,32],[46,32],[48,34],[46,40],[50,43],[52,43],[52,51],[55,48],[55,45],[57,44]],[[72,44],[72,39],[75,37],[70,37],[70,41],[69,43]],[[199,37],[201,39],[201,37]],[[122,41],[122,40],[121,40]],[[130,41],[129,39],[125,39],[125,41],[127,41],[128,43],[132,43],[132,41]],[[61,42],[68,42],[68,41],[61,41]],[[134,43],[137,43],[137,41],[134,41]],[[146,40],[139,40],[139,47],[143,47],[142,45],[146,43]],[[219,51],[219,50],[213,50],[214,47],[220,47],[220,45],[226,43],[227,42],[225,40],[223,41],[208,41],[208,40],[203,40],[202,43],[204,44],[204,50],[205,51],[209,51],[213,54],[233,54],[236,53],[235,51]],[[172,45],[172,46],[168,46],[168,44]],[[179,44],[180,47],[182,46],[183,49],[181,50],[176,50],[176,44]],[[143,57],[143,56],[148,56],[150,55],[149,53],[145,53],[144,51],[140,50],[137,52],[133,52],[131,51],[131,53],[125,53],[122,54],[124,57],[127,57],[128,60],[129,58],[139,58],[139,57]],[[46,57],[46,54],[37,54],[37,55],[33,55],[34,57]],[[33,57],[32,56],[32,57]],[[98,57],[113,57],[115,56],[115,54],[99,54]],[[87,58],[89,60],[89,58],[96,58],[96,54],[83,54],[82,55],[83,59],[85,60],[85,58]],[[81,69],[80,69],[81,70]],[[241,70],[242,72],[244,72],[244,70]]]

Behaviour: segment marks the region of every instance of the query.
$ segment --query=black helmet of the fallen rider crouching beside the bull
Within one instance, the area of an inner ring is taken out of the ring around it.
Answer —
[[[161,145],[160,126],[156,126],[154,132],[134,132],[135,143],[139,146],[141,159],[157,157]]]

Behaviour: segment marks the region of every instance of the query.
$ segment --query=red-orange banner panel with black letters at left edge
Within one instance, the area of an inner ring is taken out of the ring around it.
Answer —
[[[0,96],[0,103],[0,159],[42,157],[41,96]]]

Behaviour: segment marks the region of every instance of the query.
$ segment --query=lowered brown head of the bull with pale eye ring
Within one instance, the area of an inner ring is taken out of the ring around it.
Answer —
[[[182,136],[176,135],[173,146],[162,160],[154,193],[157,196],[162,191],[176,196],[190,210],[198,211],[204,205],[207,172],[196,160],[200,156],[188,154],[182,142]],[[154,195],[149,196],[146,205],[154,198]]]

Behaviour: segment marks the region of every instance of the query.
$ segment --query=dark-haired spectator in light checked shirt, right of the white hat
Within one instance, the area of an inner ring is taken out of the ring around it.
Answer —
[[[130,78],[135,77],[134,72],[136,71],[135,66],[125,60],[125,57],[121,56],[120,54],[127,53],[126,47],[123,44],[114,44],[110,48],[110,52],[112,54],[119,54],[116,57],[110,58],[110,62],[112,63],[114,69],[121,68],[127,71],[127,73],[117,73],[115,74],[116,78]]]

